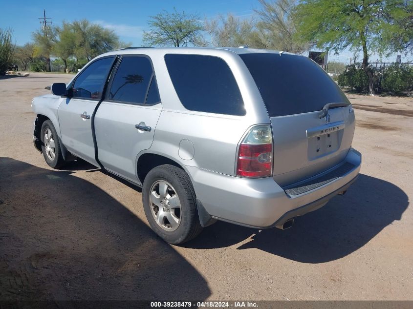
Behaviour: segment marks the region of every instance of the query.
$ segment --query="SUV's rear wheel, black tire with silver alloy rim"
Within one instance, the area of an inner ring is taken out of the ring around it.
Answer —
[[[168,164],[154,167],[143,182],[142,201],[152,230],[166,242],[183,244],[202,231],[194,187],[182,169]]]

